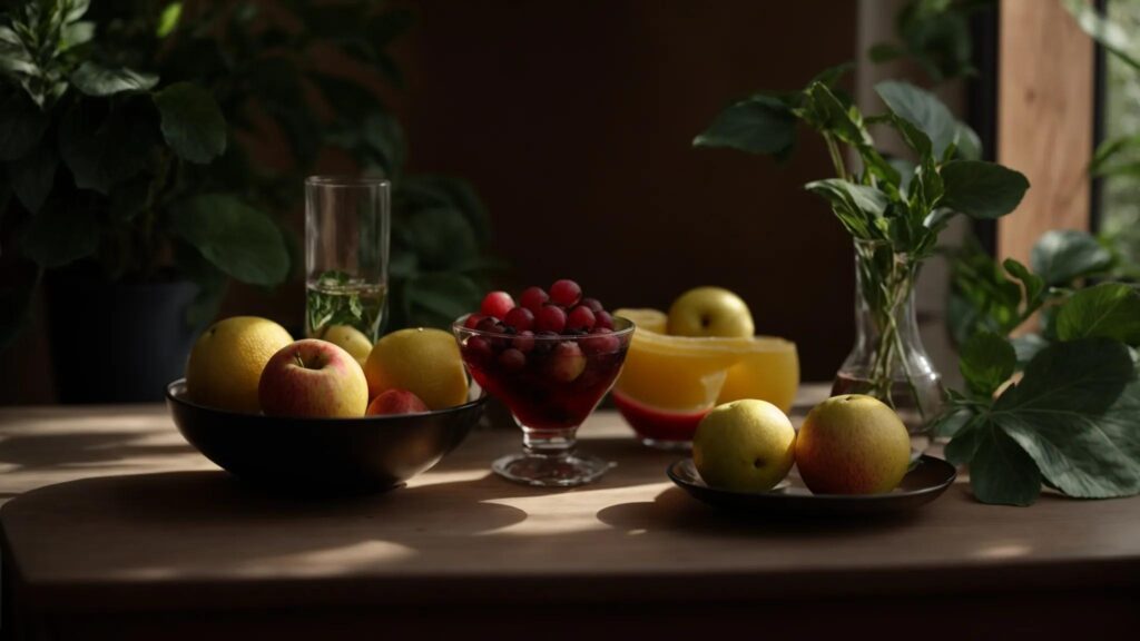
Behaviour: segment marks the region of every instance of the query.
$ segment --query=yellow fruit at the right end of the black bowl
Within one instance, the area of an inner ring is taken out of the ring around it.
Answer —
[[[415,327],[388,334],[372,348],[364,373],[372,397],[393,388],[405,389],[431,409],[467,400],[467,374],[459,347],[442,330]]]

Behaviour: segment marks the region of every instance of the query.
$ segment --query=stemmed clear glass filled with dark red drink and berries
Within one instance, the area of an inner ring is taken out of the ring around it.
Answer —
[[[451,325],[471,378],[522,428],[522,452],[496,460],[499,476],[539,487],[597,480],[613,463],[576,451],[578,427],[613,387],[634,324],[613,318],[597,334],[515,335]]]

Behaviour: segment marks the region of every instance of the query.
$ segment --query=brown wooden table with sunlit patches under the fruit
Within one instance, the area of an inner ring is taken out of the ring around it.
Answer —
[[[976,639],[1005,624],[1085,639],[1140,623],[1140,498],[990,506],[962,479],[887,519],[741,519],[674,487],[677,455],[616,414],[581,437],[618,462],[584,488],[500,480],[488,465],[520,435],[483,429],[407,488],[295,502],[219,471],[162,406],[0,411],[2,630],[671,638],[742,623]]]

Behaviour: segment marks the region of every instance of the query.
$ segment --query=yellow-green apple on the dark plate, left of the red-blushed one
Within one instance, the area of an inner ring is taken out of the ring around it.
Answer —
[[[765,492],[795,462],[796,430],[779,407],[742,399],[715,407],[697,427],[693,463],[710,487]]]

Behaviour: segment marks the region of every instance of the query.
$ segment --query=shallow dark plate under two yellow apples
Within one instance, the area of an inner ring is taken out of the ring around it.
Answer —
[[[812,494],[793,468],[769,492],[731,492],[705,485],[692,459],[669,465],[673,482],[694,497],[717,508],[767,516],[874,514],[912,510],[942,495],[958,476],[953,465],[923,454],[894,492],[869,495]]]

